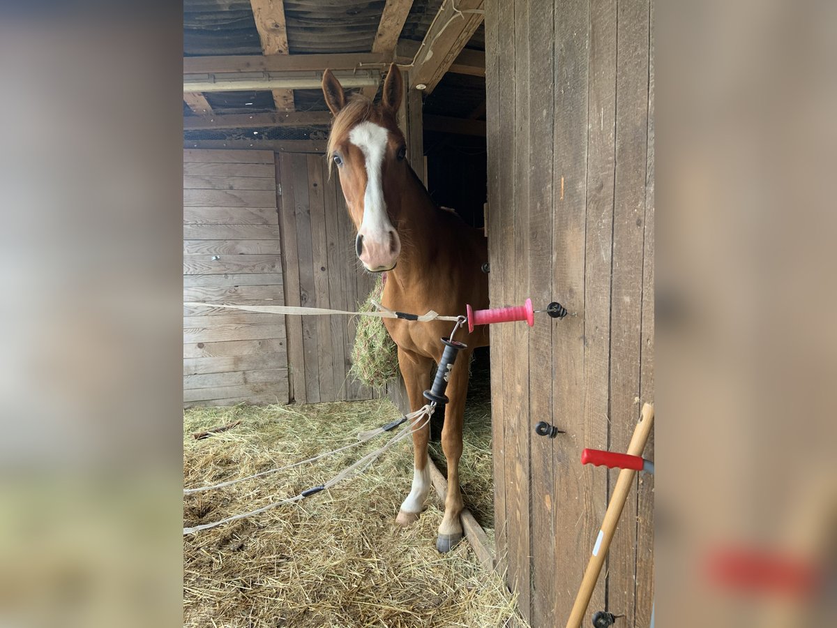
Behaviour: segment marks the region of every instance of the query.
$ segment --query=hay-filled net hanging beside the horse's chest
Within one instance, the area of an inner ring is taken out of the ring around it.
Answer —
[[[377,275],[375,286],[359,311],[378,311],[372,301],[380,303],[382,295],[383,277]],[[398,347],[383,326],[383,318],[357,317],[350,373],[360,382],[377,389],[398,376]]]

